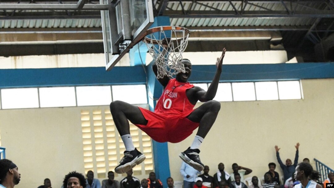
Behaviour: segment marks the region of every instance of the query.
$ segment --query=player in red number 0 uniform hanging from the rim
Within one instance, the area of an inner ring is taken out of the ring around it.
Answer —
[[[193,143],[179,157],[196,170],[204,169],[198,155],[199,147],[220,110],[220,103],[212,99],[216,95],[225,51],[224,48],[220,58],[217,58],[217,70],[207,91],[187,82],[191,63],[183,59],[184,73],[178,73],[176,78],[164,76],[158,79],[164,91],[154,112],[122,101],[110,104],[111,114],[126,149],[120,165],[115,168],[116,173],[125,173],[145,160],[144,154],[133,145],[128,120],[157,142],[181,142],[198,127]],[[164,50],[161,55],[165,53]],[[154,64],[152,69],[157,76],[157,65]],[[205,103],[193,110],[197,101]]]

